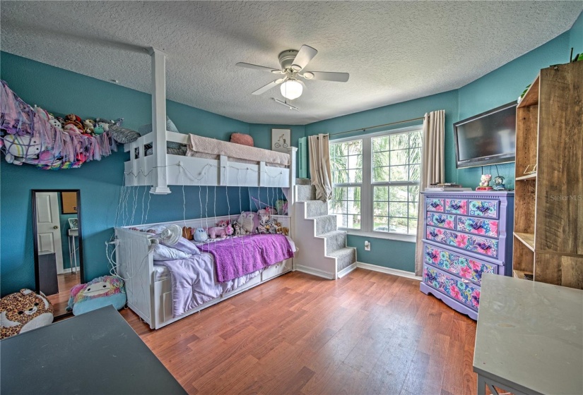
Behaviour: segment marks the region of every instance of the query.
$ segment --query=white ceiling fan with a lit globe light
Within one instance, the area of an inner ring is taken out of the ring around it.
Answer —
[[[261,93],[267,92],[272,87],[281,84],[281,95],[286,99],[293,100],[302,95],[303,87],[305,86],[302,80],[298,79],[298,77],[305,78],[306,80],[336,81],[338,83],[346,83],[346,81],[348,81],[348,77],[350,77],[348,73],[304,71],[307,63],[310,63],[317,53],[318,51],[316,49],[308,45],[302,45],[299,51],[288,49],[279,54],[279,64],[281,65],[281,69],[257,66],[257,64],[243,62],[237,63],[236,66],[255,68],[257,70],[270,71],[273,74],[282,75],[281,78],[272,81],[264,87],[260,87],[253,92],[253,95],[261,95]],[[277,101],[278,100],[276,100],[276,102]]]

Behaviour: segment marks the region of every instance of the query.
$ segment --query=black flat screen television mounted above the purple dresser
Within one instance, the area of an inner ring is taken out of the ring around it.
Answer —
[[[454,123],[458,169],[514,162],[516,107],[508,103]]]

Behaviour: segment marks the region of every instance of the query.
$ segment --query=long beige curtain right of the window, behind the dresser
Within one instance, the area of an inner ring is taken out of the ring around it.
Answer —
[[[423,157],[421,157],[421,179],[419,190],[423,192],[432,183],[445,181],[444,171],[444,128],[445,110],[432,111],[425,114],[423,120]],[[415,252],[415,274],[421,276],[423,271],[423,196],[419,196],[417,221],[417,246]]]

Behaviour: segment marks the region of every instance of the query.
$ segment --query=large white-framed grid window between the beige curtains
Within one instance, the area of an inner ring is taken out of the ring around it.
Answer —
[[[416,126],[330,142],[329,212],[339,228],[416,234],[422,133]]]

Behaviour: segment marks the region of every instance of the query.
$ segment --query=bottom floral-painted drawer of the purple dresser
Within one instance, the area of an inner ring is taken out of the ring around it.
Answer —
[[[472,310],[477,311],[480,306],[480,287],[468,280],[423,265],[423,282]]]

